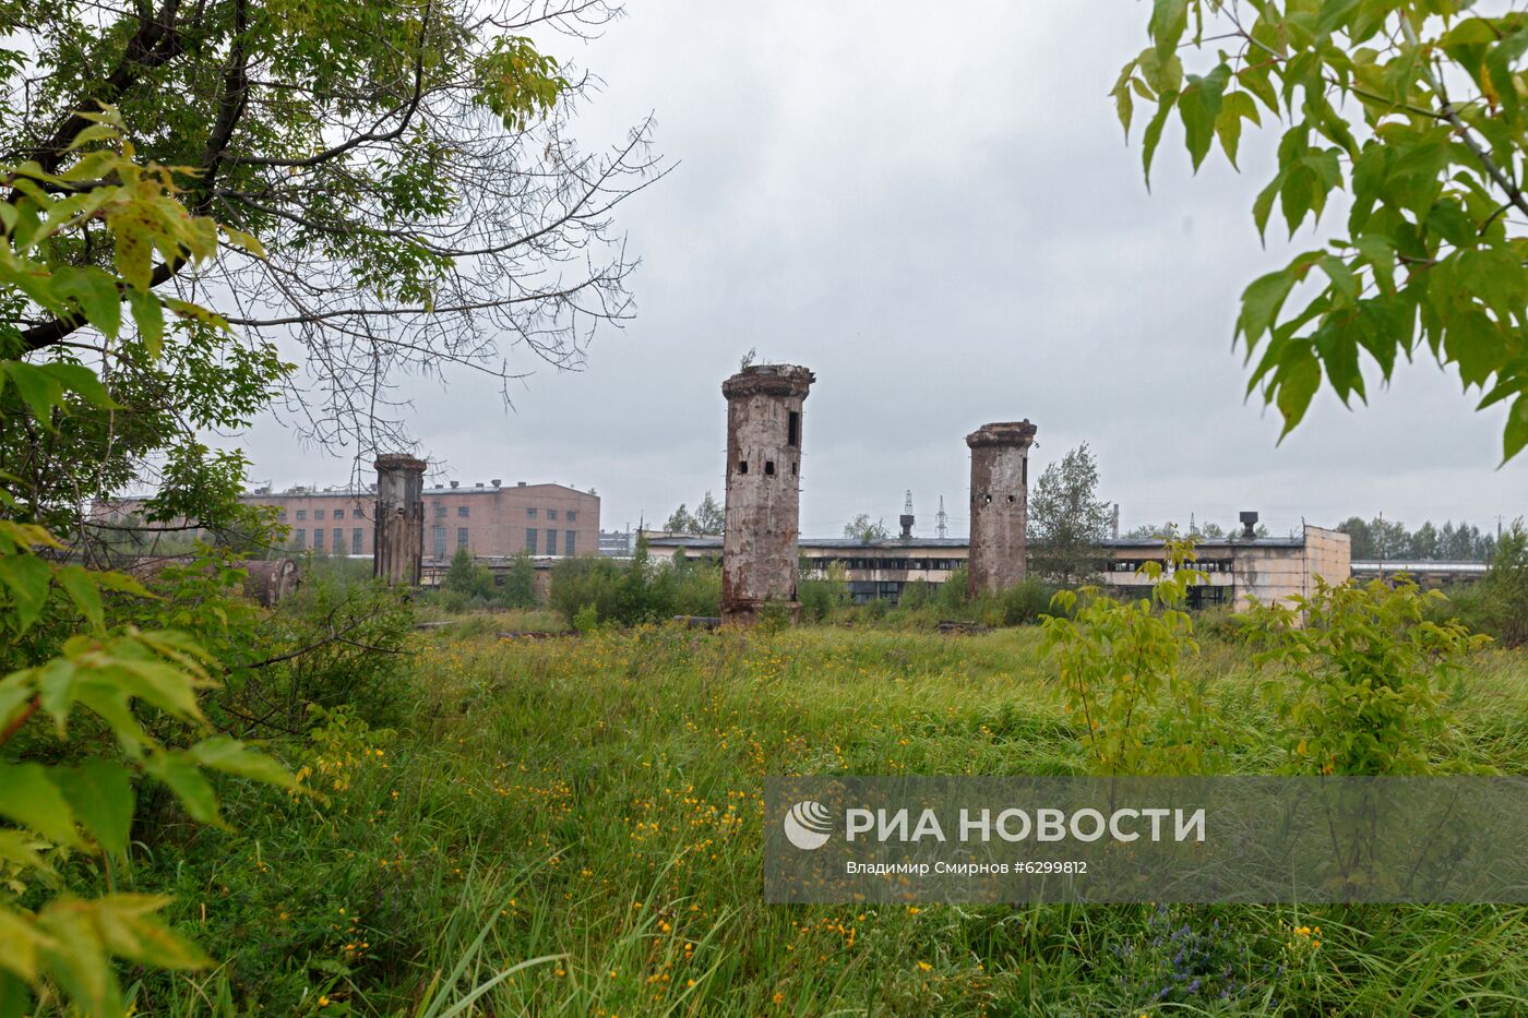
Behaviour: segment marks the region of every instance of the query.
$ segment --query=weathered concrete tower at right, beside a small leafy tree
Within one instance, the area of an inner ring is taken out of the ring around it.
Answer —
[[[1028,523],[1028,420],[989,423],[966,436],[970,446],[970,562],[967,593],[998,593],[1024,579]]]

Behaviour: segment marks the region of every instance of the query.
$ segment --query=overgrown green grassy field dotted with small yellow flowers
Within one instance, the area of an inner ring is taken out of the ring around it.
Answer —
[[[141,1013],[1528,1012],[1523,908],[766,905],[764,775],[1082,769],[1033,627],[497,628],[419,636],[393,731],[289,747],[324,798],[229,783],[238,833],[139,865],[222,961]],[[1192,668],[1230,769],[1276,769],[1244,651]],[[1449,752],[1528,772],[1528,657],[1452,697]]]

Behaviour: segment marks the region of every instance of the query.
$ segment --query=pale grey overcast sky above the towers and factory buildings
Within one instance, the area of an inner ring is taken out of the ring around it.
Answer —
[[[582,144],[651,110],[678,162],[620,212],[637,316],[588,370],[538,370],[512,410],[472,376],[410,390],[420,449],[465,483],[593,486],[607,529],[662,521],[720,498],[720,384],[756,349],[817,373],[808,537],[857,512],[894,523],[908,489],[918,533],[943,495],[964,535],[964,436],[1021,417],[1039,428],[1031,478],[1088,442],[1125,527],[1528,512],[1528,456],[1496,469],[1504,408],[1473,413],[1435,364],[1371,382],[1355,411],[1323,391],[1282,446],[1277,414],[1242,402],[1238,295],[1287,257],[1251,223],[1270,145],[1244,141],[1241,176],[1216,153],[1193,177],[1169,128],[1146,191],[1105,95],[1146,5],[952,6],[633,0],[602,38],[558,40],[604,79]],[[274,420],[235,442],[260,480],[350,477],[354,449]]]

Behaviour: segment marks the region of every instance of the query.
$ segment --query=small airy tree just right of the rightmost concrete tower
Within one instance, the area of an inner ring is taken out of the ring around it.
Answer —
[[[1112,512],[1099,498],[1099,463],[1088,443],[1041,474],[1030,492],[1030,570],[1060,584],[1091,573]]]

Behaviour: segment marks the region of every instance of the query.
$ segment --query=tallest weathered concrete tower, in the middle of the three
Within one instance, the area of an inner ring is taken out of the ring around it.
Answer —
[[[727,524],[721,619],[747,625],[770,602],[799,614],[801,405],[816,376],[756,364],[721,384],[727,397]]]

